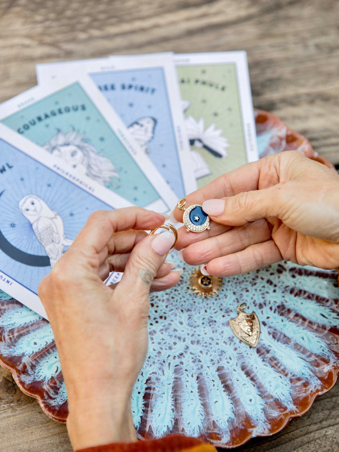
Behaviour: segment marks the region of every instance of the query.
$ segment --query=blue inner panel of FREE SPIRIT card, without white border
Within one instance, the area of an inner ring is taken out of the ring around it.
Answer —
[[[184,181],[162,67],[90,73],[165,181],[185,196]]]

